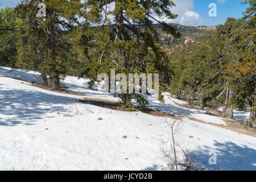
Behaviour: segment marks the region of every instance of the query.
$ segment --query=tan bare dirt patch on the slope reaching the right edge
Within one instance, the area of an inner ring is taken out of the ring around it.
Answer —
[[[241,133],[241,134],[245,134],[245,135],[250,135],[252,137],[256,137],[256,129],[245,127],[238,121],[230,121],[229,119],[226,119],[226,126],[224,126],[224,125],[218,125],[216,123],[207,123],[205,121],[202,121],[202,120],[196,119],[196,118],[189,118],[189,119],[191,119],[192,121],[196,121],[196,122],[200,122],[200,123],[206,123],[206,124],[209,124],[209,125],[222,127],[224,129],[228,129],[228,130],[231,130],[231,131],[236,131],[237,133]]]

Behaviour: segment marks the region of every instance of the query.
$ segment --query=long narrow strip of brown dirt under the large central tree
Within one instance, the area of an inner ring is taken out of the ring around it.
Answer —
[[[148,109],[148,108],[139,108],[137,106],[134,106],[134,109],[131,110],[129,108],[123,108],[123,102],[113,102],[108,100],[99,100],[96,98],[84,98],[84,100],[79,100],[79,102],[85,103],[85,104],[92,104],[94,106],[104,107],[108,109],[113,110],[119,110],[119,111],[127,111],[127,112],[134,112],[134,111],[141,111],[142,113],[155,115],[158,117],[171,117],[175,118],[175,115],[166,114],[157,110]]]

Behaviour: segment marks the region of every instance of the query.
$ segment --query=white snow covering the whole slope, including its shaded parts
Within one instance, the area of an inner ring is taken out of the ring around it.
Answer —
[[[63,84],[69,90],[86,94],[73,96],[9,78],[39,81],[39,73],[8,72],[10,69],[0,67],[1,170],[157,170],[166,166],[160,140],[168,142],[171,133],[163,117],[75,102],[84,97],[118,100],[88,89],[88,79],[65,78]],[[164,98],[166,102],[160,103],[149,97],[149,107],[172,114],[187,113],[175,140],[197,167],[256,170],[254,137],[192,121],[189,118],[225,124],[222,118],[184,109],[176,106],[173,98]],[[235,113],[237,117],[244,114]],[[208,163],[210,151],[217,154],[216,165]]]

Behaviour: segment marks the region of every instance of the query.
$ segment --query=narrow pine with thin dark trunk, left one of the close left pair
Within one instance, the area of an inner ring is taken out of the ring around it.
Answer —
[[[48,85],[45,59],[47,47],[43,30],[43,18],[39,17],[37,5],[40,1],[23,1],[16,10],[23,27],[18,33],[18,60],[16,67],[41,73],[41,80]]]

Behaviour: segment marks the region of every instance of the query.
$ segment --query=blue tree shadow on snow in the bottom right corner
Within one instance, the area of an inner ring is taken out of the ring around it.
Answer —
[[[238,146],[233,142],[220,143],[214,140],[214,150],[208,146],[200,147],[200,150],[189,152],[188,158],[198,168],[207,170],[224,170],[224,171],[249,171],[256,170],[256,150],[246,145]],[[216,152],[217,164],[210,165],[208,160]]]

